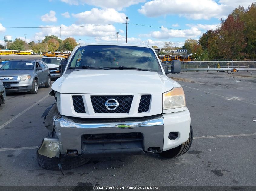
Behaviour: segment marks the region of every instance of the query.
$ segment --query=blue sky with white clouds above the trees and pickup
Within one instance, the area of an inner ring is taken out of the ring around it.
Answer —
[[[38,42],[45,35],[80,43],[118,42],[183,46],[220,24],[239,5],[252,0],[0,0],[0,44],[4,35],[13,40]],[[144,25],[144,26],[141,26]],[[14,28],[13,28],[14,27]],[[28,28],[15,28],[28,27]],[[31,27],[31,28],[29,28]],[[39,28],[40,27],[40,28]]]

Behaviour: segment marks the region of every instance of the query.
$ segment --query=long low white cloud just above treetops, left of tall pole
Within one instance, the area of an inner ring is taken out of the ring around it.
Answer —
[[[56,35],[60,37],[60,28],[61,28],[61,37],[62,40],[70,36],[89,36],[89,37],[103,37],[115,35],[116,28],[113,25],[106,26],[94,26],[93,24],[86,24],[88,27],[78,27],[79,25],[72,24],[69,27],[65,25],[46,25],[40,27],[55,27],[55,28],[41,28],[40,32],[35,33],[35,39],[42,40],[45,35]],[[56,28],[57,27],[57,28]],[[119,36],[118,36],[119,37]]]

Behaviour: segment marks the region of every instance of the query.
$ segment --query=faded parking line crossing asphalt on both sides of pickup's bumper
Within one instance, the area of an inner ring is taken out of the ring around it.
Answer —
[[[238,134],[238,135],[213,135],[213,136],[202,136],[202,137],[193,137],[193,139],[201,138],[221,138],[221,137],[243,137],[243,136],[253,136],[256,133],[250,134]],[[14,151],[14,150],[27,150],[27,149],[37,149],[38,147],[18,147],[18,148],[0,148],[0,151]]]

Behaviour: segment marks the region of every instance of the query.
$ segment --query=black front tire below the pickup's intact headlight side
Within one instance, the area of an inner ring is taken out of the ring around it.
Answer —
[[[193,141],[193,129],[192,129],[192,125],[190,124],[190,132],[189,132],[188,140],[185,143],[179,145],[178,147],[172,148],[167,151],[163,151],[161,155],[166,158],[179,157],[188,151],[188,149],[192,144],[192,141]]]

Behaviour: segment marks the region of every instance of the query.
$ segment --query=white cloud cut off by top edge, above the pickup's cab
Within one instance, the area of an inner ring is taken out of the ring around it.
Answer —
[[[70,5],[88,4],[101,8],[114,8],[121,11],[125,7],[130,7],[138,3],[143,3],[145,0],[61,0],[62,2],[68,3]]]

